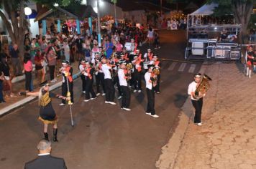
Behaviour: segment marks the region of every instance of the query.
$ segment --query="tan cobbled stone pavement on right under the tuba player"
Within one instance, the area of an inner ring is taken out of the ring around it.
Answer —
[[[235,63],[202,68],[213,79],[204,98],[203,125],[193,124],[188,98],[157,168],[256,168],[256,74],[244,77]]]

